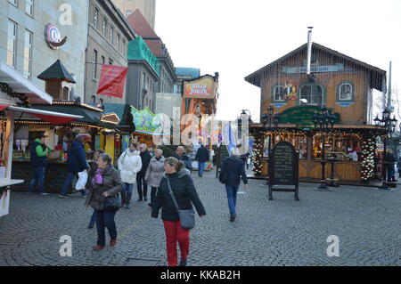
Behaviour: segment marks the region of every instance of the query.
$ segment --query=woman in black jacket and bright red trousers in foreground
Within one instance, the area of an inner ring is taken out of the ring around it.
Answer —
[[[190,231],[184,230],[181,227],[176,206],[170,196],[168,182],[176,198],[176,203],[181,210],[192,209],[193,203],[201,217],[206,215],[206,212],[196,192],[190,172],[184,168],[184,163],[174,157],[166,158],[164,170],[165,174],[160,182],[155,204],[151,211],[151,217],[157,218],[159,210],[162,208],[161,219],[163,220],[166,232],[168,265],[177,265],[176,242],[178,241],[181,250],[180,266],[185,266],[189,254]]]

